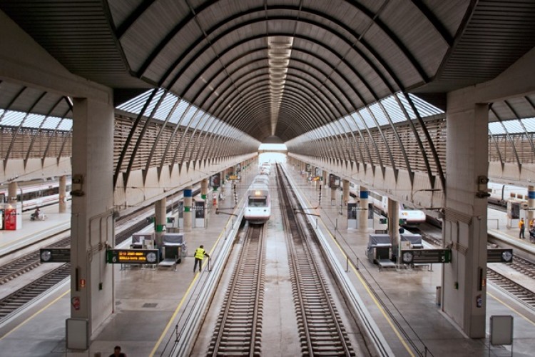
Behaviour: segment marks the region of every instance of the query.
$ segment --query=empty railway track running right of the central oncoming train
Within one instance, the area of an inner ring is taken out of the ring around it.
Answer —
[[[302,356],[356,356],[312,252],[312,243],[297,224],[287,187],[285,179],[279,181]]]

